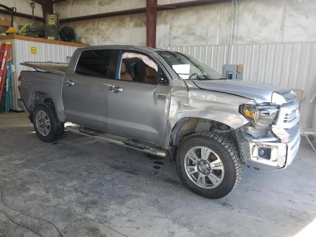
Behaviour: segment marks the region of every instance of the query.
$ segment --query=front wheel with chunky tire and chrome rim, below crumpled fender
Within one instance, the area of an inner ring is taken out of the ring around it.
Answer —
[[[232,192],[242,176],[236,146],[228,138],[208,131],[191,133],[180,141],[176,167],[189,190],[212,199]]]

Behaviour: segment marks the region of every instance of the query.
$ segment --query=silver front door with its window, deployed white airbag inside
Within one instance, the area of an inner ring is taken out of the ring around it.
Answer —
[[[122,51],[118,62],[117,79],[107,80],[109,132],[162,146],[171,81],[148,55]]]

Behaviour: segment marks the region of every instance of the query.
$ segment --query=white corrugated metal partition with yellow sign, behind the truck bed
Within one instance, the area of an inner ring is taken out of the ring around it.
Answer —
[[[60,62],[66,63],[67,56],[72,56],[77,47],[65,46],[51,43],[40,43],[26,40],[0,40],[12,42],[11,58],[12,64],[15,66],[16,72],[12,74],[11,96],[10,96],[10,109],[20,110],[17,104],[17,99],[20,98],[17,89],[17,78],[22,70],[33,70],[32,68],[20,65],[22,62]],[[37,54],[31,54],[31,46],[37,48]]]

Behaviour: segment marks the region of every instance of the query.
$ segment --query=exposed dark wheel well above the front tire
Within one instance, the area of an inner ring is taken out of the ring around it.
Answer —
[[[170,134],[169,151],[170,159],[174,158],[177,146],[181,139],[192,132],[212,131],[225,134],[233,143],[237,144],[235,130],[225,123],[205,118],[187,117],[181,118],[172,128]]]

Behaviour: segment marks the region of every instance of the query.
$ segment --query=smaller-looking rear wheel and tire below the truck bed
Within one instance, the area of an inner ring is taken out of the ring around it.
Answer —
[[[60,139],[65,129],[64,123],[58,120],[52,103],[42,103],[35,107],[33,111],[33,127],[36,135],[44,142],[53,142]]]

